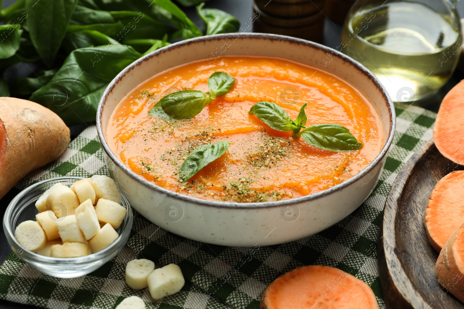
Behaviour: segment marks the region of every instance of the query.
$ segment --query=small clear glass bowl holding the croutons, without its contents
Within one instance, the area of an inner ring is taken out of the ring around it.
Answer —
[[[121,205],[127,209],[127,212],[121,226],[116,229],[119,237],[102,251],[83,257],[64,259],[39,255],[19,245],[19,242],[14,237],[14,230],[19,223],[35,219],[35,215],[39,213],[35,207],[35,202],[39,199],[39,196],[56,183],[71,186],[72,183],[81,179],[84,178],[58,177],[35,183],[22,190],[13,198],[6,208],[3,217],[3,230],[13,252],[27,264],[53,277],[74,278],[95,271],[121,252],[127,240],[129,240],[129,233],[133,222],[132,209],[126,198],[121,195]]]

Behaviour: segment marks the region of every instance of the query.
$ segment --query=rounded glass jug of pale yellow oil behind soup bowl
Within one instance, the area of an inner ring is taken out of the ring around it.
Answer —
[[[374,73],[393,101],[433,95],[453,74],[461,24],[450,0],[357,0],[339,50]]]

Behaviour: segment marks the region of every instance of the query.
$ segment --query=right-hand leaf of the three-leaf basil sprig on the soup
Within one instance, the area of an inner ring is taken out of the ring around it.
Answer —
[[[309,145],[323,150],[355,151],[362,147],[346,127],[337,124],[310,126],[301,132],[301,136]]]

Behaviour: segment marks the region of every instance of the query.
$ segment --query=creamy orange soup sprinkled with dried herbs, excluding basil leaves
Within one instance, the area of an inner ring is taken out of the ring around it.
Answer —
[[[216,71],[235,82],[200,114],[183,120],[148,115],[173,92],[207,92],[208,78]],[[328,151],[290,131],[274,130],[249,114],[260,101],[277,104],[292,120],[307,103],[305,127],[339,124],[362,147]],[[270,57],[221,57],[161,72],[122,99],[107,137],[111,150],[140,177],[181,194],[224,202],[277,201],[328,189],[359,173],[383,145],[379,115],[358,90],[321,69]],[[180,167],[192,151],[222,140],[229,142],[227,151],[183,182]]]

